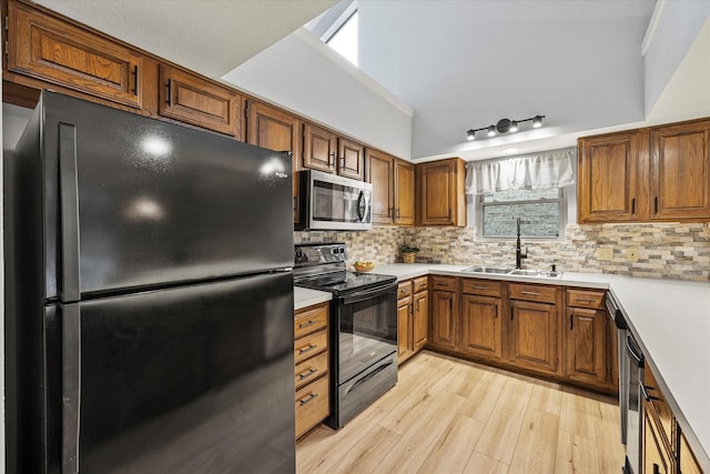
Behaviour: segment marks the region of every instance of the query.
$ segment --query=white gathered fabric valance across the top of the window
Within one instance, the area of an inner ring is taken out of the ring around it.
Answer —
[[[473,161],[466,164],[466,194],[562,188],[575,183],[577,149],[552,150],[526,157]]]

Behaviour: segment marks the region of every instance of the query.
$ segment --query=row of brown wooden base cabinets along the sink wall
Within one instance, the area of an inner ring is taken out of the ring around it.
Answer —
[[[428,347],[616,392],[604,290],[432,275],[429,295]]]

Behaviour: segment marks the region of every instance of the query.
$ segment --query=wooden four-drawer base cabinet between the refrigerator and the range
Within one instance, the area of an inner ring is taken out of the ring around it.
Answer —
[[[331,414],[328,303],[304,307],[294,317],[296,438]]]

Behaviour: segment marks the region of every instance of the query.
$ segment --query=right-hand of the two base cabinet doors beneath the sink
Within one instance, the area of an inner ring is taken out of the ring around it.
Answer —
[[[557,306],[528,301],[510,302],[510,359],[527,369],[559,372]]]

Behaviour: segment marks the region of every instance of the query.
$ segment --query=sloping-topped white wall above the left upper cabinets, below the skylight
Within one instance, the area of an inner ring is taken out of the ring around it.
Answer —
[[[412,109],[305,29],[222,79],[366,144],[410,158]]]

